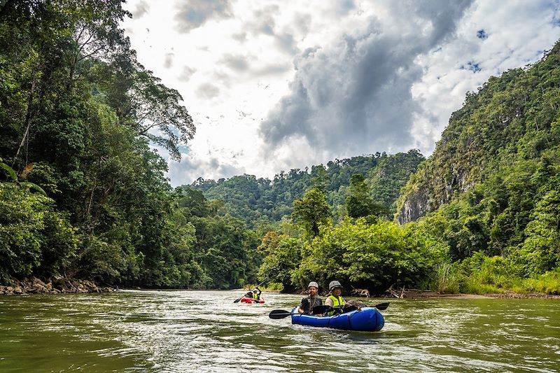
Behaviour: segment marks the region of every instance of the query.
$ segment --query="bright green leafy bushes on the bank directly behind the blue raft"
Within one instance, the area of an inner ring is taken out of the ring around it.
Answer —
[[[360,218],[324,227],[302,252],[302,279],[315,279],[323,286],[340,279],[379,291],[395,283],[418,285],[442,260],[444,248],[421,230]]]

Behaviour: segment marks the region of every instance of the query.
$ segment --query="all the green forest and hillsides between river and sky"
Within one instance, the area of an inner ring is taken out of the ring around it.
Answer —
[[[0,282],[560,293],[560,44],[417,150],[173,189],[195,136],[120,0],[0,3]]]

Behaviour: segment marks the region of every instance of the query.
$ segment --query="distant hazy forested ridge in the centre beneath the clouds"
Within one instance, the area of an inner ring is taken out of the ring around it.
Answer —
[[[388,219],[396,212],[400,188],[418,169],[424,157],[418,150],[387,155],[360,155],[306,168],[281,171],[272,180],[253,175],[221,178],[218,181],[198,178],[193,185],[182,188],[201,190],[209,199],[222,199],[233,216],[244,220],[249,227],[268,226],[289,215],[295,199],[302,197],[314,183],[321,183],[328,203],[335,211],[335,221],[346,216],[345,199],[350,178],[354,174],[365,177],[368,194],[377,209]]]

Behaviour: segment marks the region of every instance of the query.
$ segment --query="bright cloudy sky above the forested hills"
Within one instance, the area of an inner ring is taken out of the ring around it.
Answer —
[[[419,149],[465,93],[542,58],[560,0],[128,0],[146,69],[196,125],[172,185]]]

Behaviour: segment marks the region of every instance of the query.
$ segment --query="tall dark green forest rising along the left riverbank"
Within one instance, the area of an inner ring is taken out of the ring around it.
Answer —
[[[128,16],[120,0],[1,1],[0,282],[255,281],[255,233],[172,190],[148,146],[179,158],[195,127],[179,92],[137,62]]]

